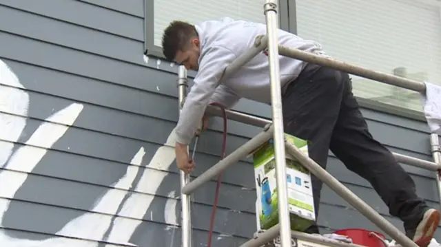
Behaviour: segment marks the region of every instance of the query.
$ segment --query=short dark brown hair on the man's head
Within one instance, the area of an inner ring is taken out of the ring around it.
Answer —
[[[194,36],[198,36],[194,25],[185,21],[172,21],[164,30],[163,54],[167,60],[173,61],[176,52],[183,51],[185,45]]]

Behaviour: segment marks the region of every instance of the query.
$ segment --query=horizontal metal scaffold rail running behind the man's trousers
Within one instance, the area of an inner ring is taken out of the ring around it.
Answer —
[[[207,107],[207,112],[214,116],[222,116],[222,111],[218,109],[218,107]],[[243,122],[249,125],[254,125],[256,127],[265,127],[265,125],[271,125],[271,120],[265,118],[259,118],[256,116],[249,116],[248,114],[244,114],[240,111],[234,110],[225,110],[227,114],[227,118],[229,120],[234,120],[237,122]],[[413,167],[420,167],[422,169],[428,169],[431,171],[438,171],[441,168],[441,164],[436,164],[435,162],[421,160],[418,158],[413,158],[408,155],[400,154],[400,153],[392,153],[396,160],[403,164],[409,164]]]

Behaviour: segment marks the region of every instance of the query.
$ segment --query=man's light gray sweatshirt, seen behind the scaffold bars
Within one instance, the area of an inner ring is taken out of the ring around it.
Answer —
[[[266,25],[224,18],[205,21],[195,27],[201,41],[201,53],[194,85],[189,90],[176,126],[176,141],[182,144],[191,142],[210,103],[220,103],[227,109],[240,98],[271,104],[268,57],[263,53],[218,84],[224,69],[254,45],[256,36],[266,34]],[[318,43],[283,30],[278,30],[278,42],[305,52],[326,55]],[[279,61],[282,87],[294,80],[306,65],[286,56],[279,56]]]

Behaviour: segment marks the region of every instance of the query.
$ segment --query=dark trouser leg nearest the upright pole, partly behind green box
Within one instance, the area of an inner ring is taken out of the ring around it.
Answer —
[[[303,70],[283,96],[285,133],[309,140],[309,157],[325,169],[345,84],[341,72],[326,67],[310,72],[311,67]],[[311,180],[317,218],[322,182],[314,175]],[[318,228],[307,232],[318,233]]]

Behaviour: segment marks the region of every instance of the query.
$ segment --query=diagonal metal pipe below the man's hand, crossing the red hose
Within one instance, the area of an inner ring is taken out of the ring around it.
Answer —
[[[219,173],[223,172],[232,164],[238,162],[240,159],[245,158],[249,153],[252,153],[255,149],[257,149],[261,144],[269,140],[273,134],[272,125],[268,125],[262,132],[258,133],[254,138],[245,142],[241,147],[230,153],[223,160],[220,160],[213,167],[210,167],[207,171],[202,173],[195,178],[192,182],[189,182],[187,185],[183,186],[181,189],[181,193],[185,195],[189,195],[193,193],[198,187],[205,184],[212,178],[216,177]]]

